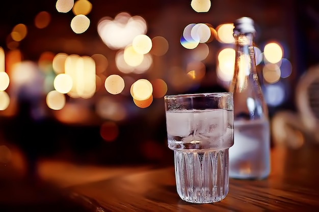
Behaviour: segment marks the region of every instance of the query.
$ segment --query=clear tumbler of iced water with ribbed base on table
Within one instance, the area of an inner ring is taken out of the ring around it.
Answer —
[[[232,93],[170,95],[164,100],[178,195],[192,203],[224,199],[234,137]]]

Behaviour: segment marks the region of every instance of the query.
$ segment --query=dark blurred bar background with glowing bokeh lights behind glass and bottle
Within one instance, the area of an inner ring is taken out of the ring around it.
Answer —
[[[163,97],[228,89],[239,17],[255,21],[270,118],[298,112],[296,84],[319,58],[316,1],[25,0],[0,11],[0,163],[21,170],[173,163]]]

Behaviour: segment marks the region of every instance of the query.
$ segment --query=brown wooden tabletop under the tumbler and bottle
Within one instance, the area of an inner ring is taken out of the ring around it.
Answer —
[[[264,180],[230,179],[220,202],[193,204],[176,192],[173,166],[153,167],[68,188],[92,211],[313,211],[319,208],[319,146],[272,149],[272,172]],[[172,159],[173,160],[173,159]]]

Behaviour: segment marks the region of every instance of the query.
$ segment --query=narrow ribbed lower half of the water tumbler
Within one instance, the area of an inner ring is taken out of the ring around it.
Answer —
[[[181,199],[211,203],[228,193],[228,148],[215,152],[174,151],[176,189]]]

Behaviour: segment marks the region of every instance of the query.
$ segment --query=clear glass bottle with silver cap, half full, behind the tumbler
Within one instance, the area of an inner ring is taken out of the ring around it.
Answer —
[[[235,69],[229,91],[234,98],[234,145],[229,149],[229,177],[262,179],[270,173],[270,126],[256,72],[254,21],[234,21]]]

